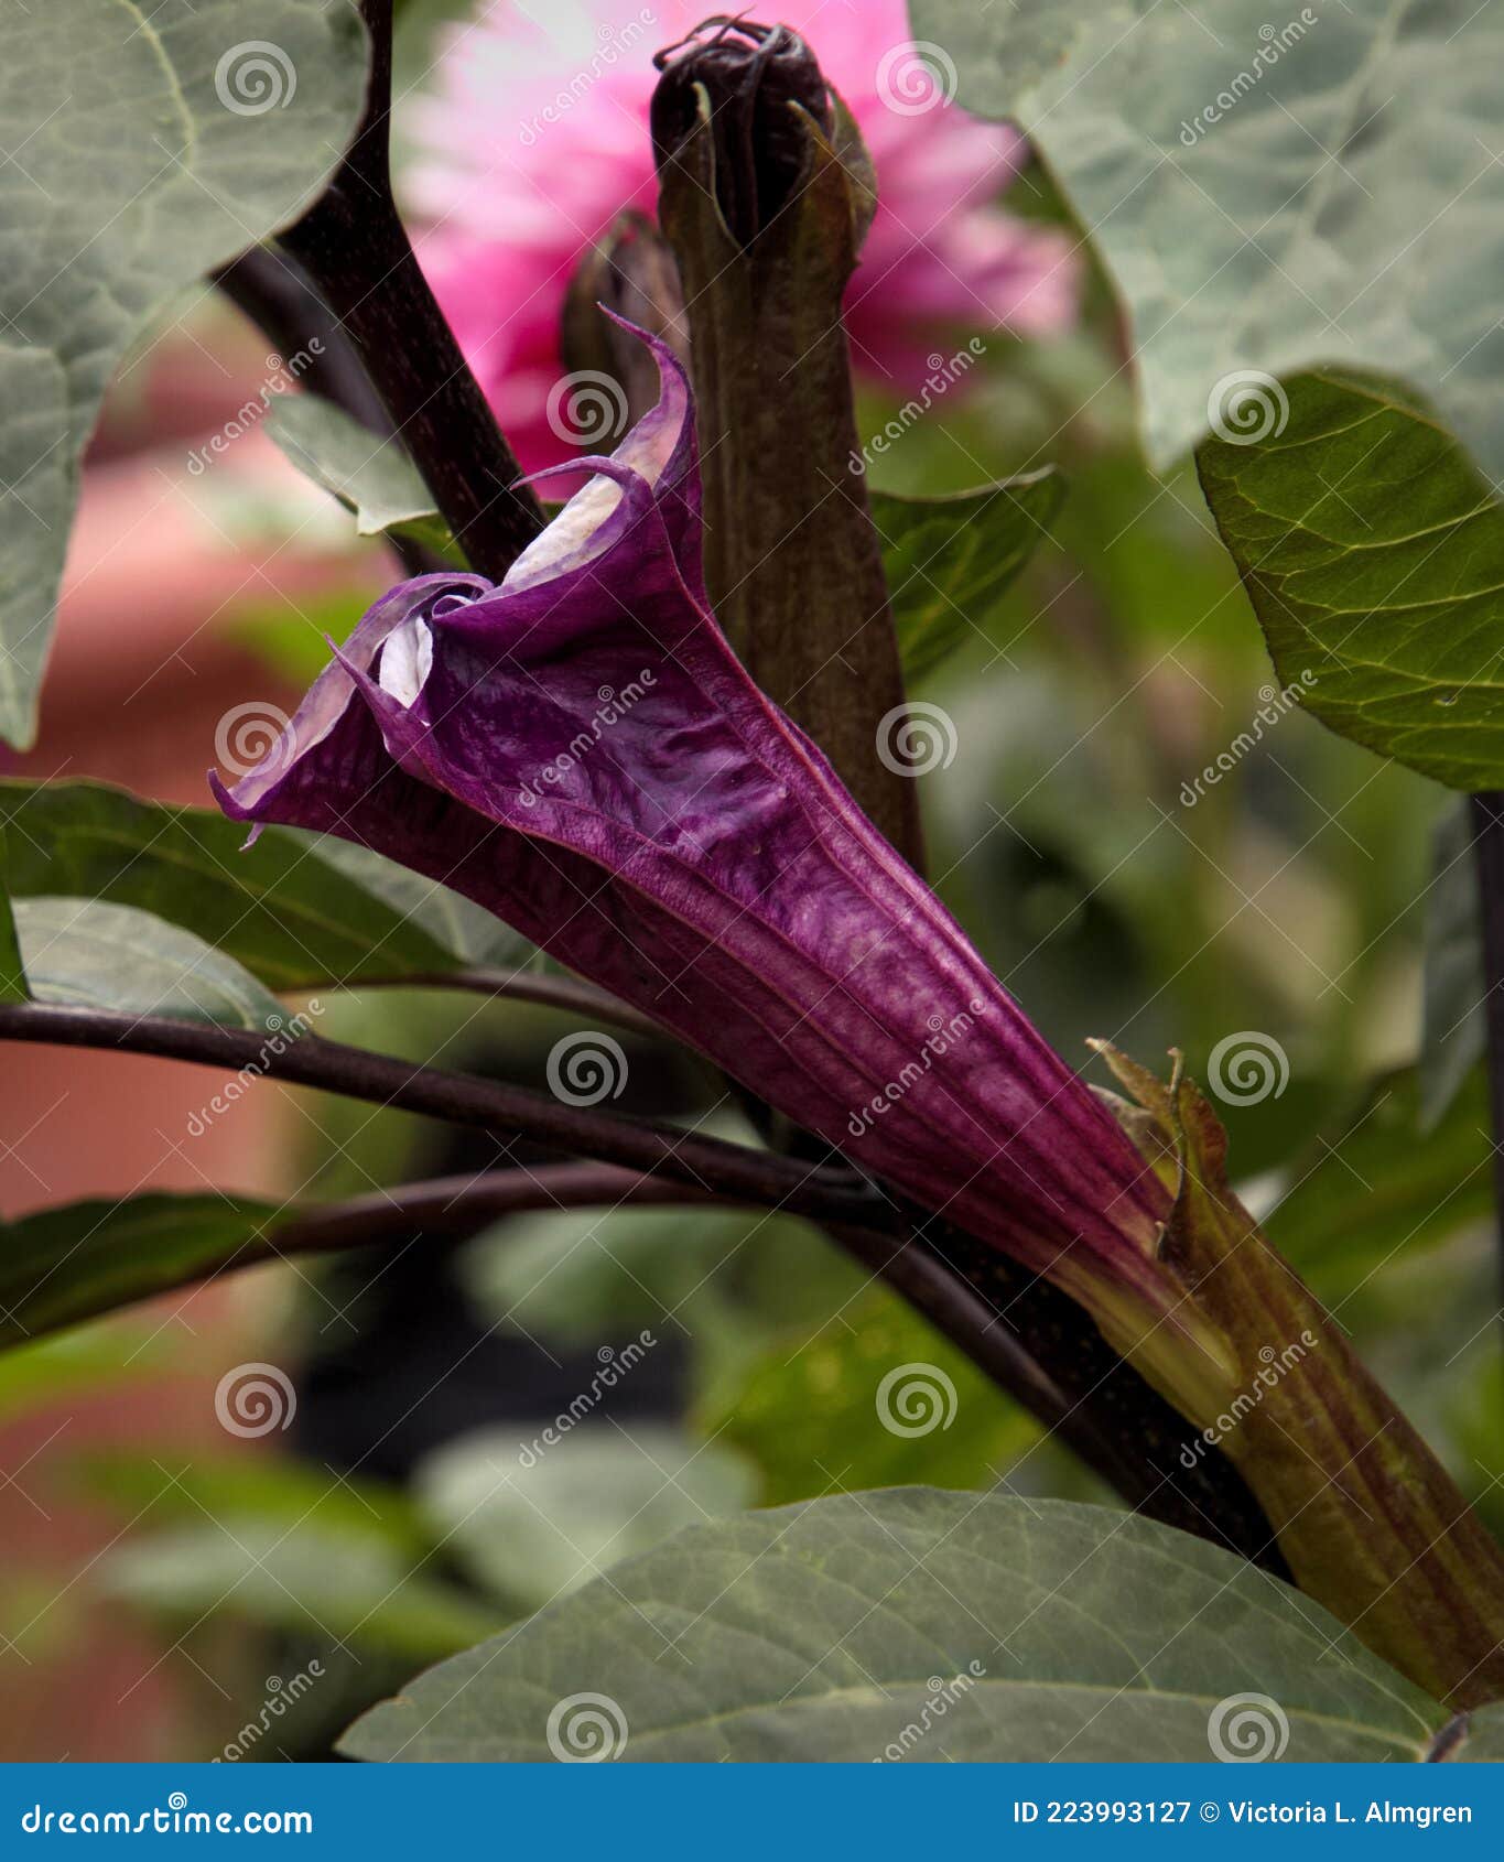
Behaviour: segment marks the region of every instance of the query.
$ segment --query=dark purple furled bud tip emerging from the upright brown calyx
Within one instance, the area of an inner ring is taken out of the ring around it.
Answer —
[[[830,132],[830,99],[815,54],[787,26],[717,13],[657,52],[653,65],[663,73],[650,112],[659,171],[707,115],[717,205],[732,236],[750,246],[810,162],[789,106],[799,104]]]

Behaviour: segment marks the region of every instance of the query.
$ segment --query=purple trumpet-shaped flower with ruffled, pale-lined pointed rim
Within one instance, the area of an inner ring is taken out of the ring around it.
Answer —
[[[1169,1190],[732,654],[644,341],[657,406],[504,581],[393,588],[222,808],[467,894],[1184,1376]]]

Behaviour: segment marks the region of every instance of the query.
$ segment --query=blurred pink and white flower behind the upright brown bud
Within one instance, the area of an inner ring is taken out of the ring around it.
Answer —
[[[624,207],[653,212],[651,56],[713,11],[705,0],[495,0],[449,35],[413,108],[419,255],[523,466],[570,454],[545,404],[562,372],[558,317],[579,257]],[[912,393],[946,326],[1052,330],[1074,307],[1065,236],[994,201],[1022,138],[947,102],[953,71],[920,61],[903,0],[754,7],[806,34],[862,127],[879,212],[847,290],[864,376]],[[934,74],[933,74],[934,73]]]

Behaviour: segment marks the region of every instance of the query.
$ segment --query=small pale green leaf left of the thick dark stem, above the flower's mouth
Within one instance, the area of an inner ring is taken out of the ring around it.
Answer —
[[[359,536],[391,531],[463,562],[400,439],[378,438],[316,395],[279,395],[266,412],[266,430],[298,471],[354,510]]]

